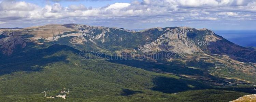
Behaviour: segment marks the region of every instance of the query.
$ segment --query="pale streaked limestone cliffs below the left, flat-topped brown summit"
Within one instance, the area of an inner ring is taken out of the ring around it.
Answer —
[[[120,34],[115,32],[117,30],[124,31],[124,29],[119,28],[108,28],[108,27],[95,27],[95,26],[88,26],[88,25],[81,25],[81,24],[65,24],[62,25],[69,29],[75,30],[77,33],[67,34],[67,35],[61,35],[61,36],[55,36],[55,37],[49,37],[46,38],[46,40],[58,40],[58,38],[66,37],[66,36],[76,36],[76,37],[85,37],[86,40],[90,41],[94,44],[99,43],[105,43],[110,41],[117,41],[122,40],[122,37],[119,37]],[[74,40],[72,41],[73,43]]]

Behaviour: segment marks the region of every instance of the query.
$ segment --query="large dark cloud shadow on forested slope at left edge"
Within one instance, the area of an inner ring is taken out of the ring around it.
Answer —
[[[68,63],[67,55],[53,55],[60,51],[78,53],[78,50],[65,45],[52,45],[44,49],[33,48],[33,44],[28,44],[25,48],[17,46],[12,55],[0,57],[0,75],[17,71],[41,71],[47,64],[55,62]]]

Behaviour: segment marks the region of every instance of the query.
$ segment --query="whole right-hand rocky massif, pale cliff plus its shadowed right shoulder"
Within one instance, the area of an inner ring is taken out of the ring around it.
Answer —
[[[216,36],[207,29],[198,30],[187,27],[175,27],[158,28],[159,31],[162,31],[162,34],[152,42],[141,46],[139,48],[140,51],[171,51],[178,54],[193,54],[203,51],[204,48],[206,50],[208,45],[217,40],[222,40],[222,37]]]

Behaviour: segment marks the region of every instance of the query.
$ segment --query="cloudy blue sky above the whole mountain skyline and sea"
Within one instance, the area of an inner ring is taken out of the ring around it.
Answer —
[[[0,0],[0,28],[68,23],[256,30],[256,0]]]

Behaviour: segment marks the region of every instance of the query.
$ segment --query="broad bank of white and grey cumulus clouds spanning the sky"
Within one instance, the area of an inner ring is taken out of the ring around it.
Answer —
[[[80,0],[52,0],[80,1]],[[92,0],[99,1],[99,0]],[[83,4],[63,6],[61,2],[38,6],[25,1],[0,1],[0,19],[26,22],[87,21],[111,22],[193,22],[198,20],[253,20],[256,0],[142,0],[131,3],[116,2],[103,7]],[[3,23],[1,23],[3,24]]]

